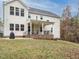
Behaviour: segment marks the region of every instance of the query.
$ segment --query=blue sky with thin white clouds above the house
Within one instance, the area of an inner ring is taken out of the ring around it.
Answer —
[[[0,17],[2,17],[2,1],[0,0]],[[27,6],[50,11],[59,16],[62,15],[63,9],[70,5],[72,16],[76,15],[78,10],[78,0],[22,0]]]

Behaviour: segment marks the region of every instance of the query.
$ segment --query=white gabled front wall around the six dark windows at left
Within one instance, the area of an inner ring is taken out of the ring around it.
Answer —
[[[19,8],[23,8],[25,10],[24,14],[25,16],[16,16],[16,15],[10,15],[10,6],[14,6],[14,7],[19,7]],[[26,26],[26,20],[27,20],[27,15],[28,15],[28,11],[27,9],[21,5],[18,1],[12,2],[10,4],[4,5],[4,36],[9,36],[10,35],[10,29],[9,29],[9,24],[13,23],[13,24],[24,24]],[[25,31],[26,31],[26,27],[25,27]],[[16,36],[21,36],[23,35],[23,33],[25,31],[15,31],[14,28],[14,33],[16,33]]]

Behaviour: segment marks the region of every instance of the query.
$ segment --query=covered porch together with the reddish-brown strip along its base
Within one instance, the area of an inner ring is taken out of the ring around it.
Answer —
[[[53,25],[54,22],[31,20],[28,23],[27,37],[32,38],[53,38],[51,30],[46,30],[47,25]],[[53,27],[53,26],[52,26]]]

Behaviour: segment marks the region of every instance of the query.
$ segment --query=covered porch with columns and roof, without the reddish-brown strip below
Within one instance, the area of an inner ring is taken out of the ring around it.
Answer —
[[[28,35],[50,35],[51,30],[47,30],[45,27],[47,25],[53,25],[53,22],[49,21],[36,21],[31,20],[28,23]]]

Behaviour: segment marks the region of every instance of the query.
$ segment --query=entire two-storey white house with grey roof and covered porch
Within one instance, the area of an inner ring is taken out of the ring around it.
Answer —
[[[21,0],[4,3],[3,20],[5,37],[14,32],[15,36],[52,35],[60,38],[60,17],[54,13],[26,6]]]

